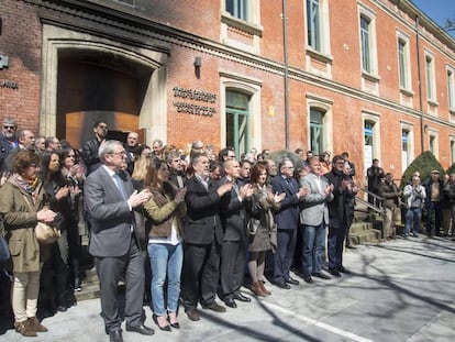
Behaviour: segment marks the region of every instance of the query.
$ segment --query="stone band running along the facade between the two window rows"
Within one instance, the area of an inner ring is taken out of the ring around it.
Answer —
[[[154,48],[167,49],[167,47],[164,46],[146,44],[141,40],[141,37],[148,37],[167,44],[175,44],[179,46],[185,46],[187,48],[201,51],[207,54],[217,56],[219,58],[224,58],[235,63],[247,65],[267,73],[281,76],[285,75],[285,65],[282,63],[278,63],[247,52],[243,52],[241,49],[236,49],[235,47],[226,46],[219,42],[203,38],[191,33],[178,30],[176,27],[170,27],[140,16],[131,15],[112,9],[107,10],[107,8],[99,7],[92,2],[81,2],[76,0],[65,0],[65,2],[58,0],[22,1],[33,3],[35,5],[42,7],[43,9],[46,9],[47,11],[40,11],[40,15],[42,20],[53,22],[54,24],[65,25],[65,22],[62,20],[62,14],[65,14],[65,19],[74,16],[87,21],[85,24],[81,24],[80,20],[74,20],[70,21],[70,24],[67,24],[71,25],[71,27],[78,27],[79,30],[88,30],[87,23],[96,23],[97,25],[99,25],[99,27],[110,26],[114,27],[118,31],[125,31],[130,34],[136,35],[136,40],[133,41],[134,44],[148,45],[153,46]],[[409,2],[407,0],[404,1]],[[69,7],[70,4],[71,7]],[[90,27],[91,30],[96,30],[93,25],[91,25]],[[102,30],[96,30],[96,32],[97,34],[107,35],[102,32]],[[119,37],[125,38],[126,35],[120,35]],[[127,35],[127,38],[131,40],[131,36]],[[295,80],[308,82],[315,87],[320,87],[337,93],[343,93],[345,96],[367,101],[369,103],[378,104],[390,110],[399,111],[401,113],[412,115],[414,118],[420,119],[422,117],[425,121],[437,122],[441,124],[455,128],[455,123],[441,120],[439,118],[425,113],[421,113],[419,110],[414,110],[400,103],[393,102],[391,100],[384,99],[379,96],[364,92],[359,89],[348,87],[346,85],[320,77],[318,75],[291,66],[288,67],[288,70],[289,77]],[[399,89],[397,89],[397,92],[398,91]]]

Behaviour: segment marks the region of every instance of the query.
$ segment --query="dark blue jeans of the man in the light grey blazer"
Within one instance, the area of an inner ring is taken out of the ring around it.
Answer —
[[[310,276],[322,269],[322,253],[325,244],[325,224],[303,224],[302,273]]]

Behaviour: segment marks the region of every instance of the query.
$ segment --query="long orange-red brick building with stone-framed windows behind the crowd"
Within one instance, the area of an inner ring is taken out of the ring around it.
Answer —
[[[286,15],[282,15],[286,13]],[[80,146],[455,162],[455,41],[408,0],[1,0],[0,118]]]

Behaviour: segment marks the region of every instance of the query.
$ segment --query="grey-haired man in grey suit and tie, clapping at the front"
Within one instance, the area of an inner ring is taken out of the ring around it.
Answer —
[[[149,190],[134,191],[126,172],[126,153],[119,141],[106,141],[99,148],[102,166],[87,177],[84,197],[91,217],[89,252],[100,280],[106,332],[121,342],[118,283],[124,277],[126,331],[152,335],[143,323],[144,266],[135,234],[133,208],[145,203]]]

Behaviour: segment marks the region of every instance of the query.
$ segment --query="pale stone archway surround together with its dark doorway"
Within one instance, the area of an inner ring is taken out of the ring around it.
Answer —
[[[84,112],[80,141],[92,134],[95,112],[112,126],[118,113],[144,141],[167,137],[167,52],[119,43],[89,33],[43,25],[40,134],[66,137],[68,113]],[[134,115],[136,119],[134,119]],[[133,120],[134,119],[134,120]],[[120,128],[119,132],[123,129]]]

